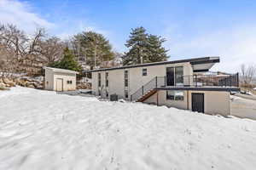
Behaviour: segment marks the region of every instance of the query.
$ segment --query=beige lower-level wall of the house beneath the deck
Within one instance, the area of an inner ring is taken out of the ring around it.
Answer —
[[[180,100],[169,100],[166,99],[166,91],[158,91],[158,104],[166,105],[169,107],[176,107],[178,109],[192,110],[192,93],[204,94],[204,109],[205,113],[211,115],[230,115],[230,93],[220,91],[184,91],[184,99]],[[144,101],[148,104],[156,104],[157,94],[152,95]]]

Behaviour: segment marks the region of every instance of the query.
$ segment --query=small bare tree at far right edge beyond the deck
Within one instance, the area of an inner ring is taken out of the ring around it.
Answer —
[[[241,65],[241,80],[247,86],[252,83],[253,77],[256,75],[255,65]]]

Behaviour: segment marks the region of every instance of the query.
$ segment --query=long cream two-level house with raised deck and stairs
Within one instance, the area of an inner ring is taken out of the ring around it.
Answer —
[[[210,73],[218,62],[219,57],[203,57],[91,70],[92,92],[227,116],[230,91],[239,90],[239,77]]]

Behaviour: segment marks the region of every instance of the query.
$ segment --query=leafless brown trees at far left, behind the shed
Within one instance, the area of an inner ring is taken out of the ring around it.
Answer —
[[[44,28],[26,35],[14,25],[0,25],[1,70],[34,74],[41,67],[61,59],[64,42],[48,37]]]

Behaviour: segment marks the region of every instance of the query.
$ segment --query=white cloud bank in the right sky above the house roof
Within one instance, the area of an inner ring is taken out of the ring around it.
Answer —
[[[166,35],[172,59],[176,56],[220,56],[220,63],[212,69],[231,72],[239,71],[242,63],[256,62],[256,26],[234,26],[207,31],[196,37],[173,33],[171,30]]]

